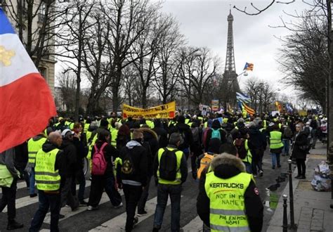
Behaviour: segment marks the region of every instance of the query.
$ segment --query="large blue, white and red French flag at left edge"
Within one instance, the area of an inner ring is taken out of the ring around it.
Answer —
[[[55,115],[48,84],[0,7],[0,153],[39,134]]]

